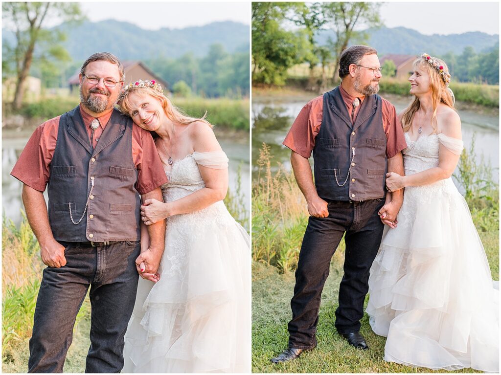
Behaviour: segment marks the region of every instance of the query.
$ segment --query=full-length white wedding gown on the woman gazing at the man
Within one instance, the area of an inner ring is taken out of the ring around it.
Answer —
[[[405,174],[438,166],[443,134],[411,141]],[[410,366],[499,371],[499,293],[468,206],[447,178],[406,187],[395,229],[385,228],[369,277],[372,330],[387,336],[384,359]]]

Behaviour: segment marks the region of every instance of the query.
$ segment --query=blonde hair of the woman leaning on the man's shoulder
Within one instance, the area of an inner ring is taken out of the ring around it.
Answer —
[[[205,114],[200,118],[190,117],[186,115],[181,109],[173,105],[169,98],[167,98],[162,93],[159,93],[152,87],[132,87],[127,90],[127,95],[125,95],[125,97],[118,102],[120,112],[127,116],[130,116],[129,111],[132,109],[129,100],[129,95],[131,93],[149,95],[153,98],[158,99],[165,112],[165,116],[174,123],[188,125],[195,121],[201,121],[212,128],[212,124],[205,120],[205,118],[207,117],[207,111],[205,111]]]

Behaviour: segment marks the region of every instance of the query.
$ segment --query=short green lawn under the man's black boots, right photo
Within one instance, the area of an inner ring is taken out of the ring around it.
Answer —
[[[350,346],[336,332],[334,312],[338,306],[339,283],[343,276],[343,254],[336,253],[331,272],[322,293],[322,305],[317,331],[318,346],[300,358],[273,364],[270,358],[287,347],[287,323],[292,317],[290,300],[293,295],[294,273],[279,274],[278,269],[262,262],[253,264],[253,372],[479,372],[431,371],[383,360],[385,337],[372,332],[367,314],[362,319],[360,332],[365,336],[369,350]],[[367,302],[367,300],[366,300]]]

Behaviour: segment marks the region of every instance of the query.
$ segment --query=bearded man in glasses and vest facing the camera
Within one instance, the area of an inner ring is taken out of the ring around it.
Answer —
[[[62,372],[73,326],[91,286],[86,372],[119,372],[139,271],[158,279],[165,221],[150,225],[140,249],[140,197],[162,200],[167,182],[148,132],[114,109],[124,84],[120,61],[89,57],[80,71],[80,105],[40,125],[12,175],[44,269],[30,339],[29,372]],[[48,186],[49,209],[43,192]]]

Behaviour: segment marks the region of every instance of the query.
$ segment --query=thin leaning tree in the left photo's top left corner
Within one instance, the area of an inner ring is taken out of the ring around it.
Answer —
[[[78,3],[2,3],[4,26],[13,30],[16,37],[16,45],[7,46],[4,56],[4,59],[15,64],[13,70],[16,72],[17,82],[14,108],[21,107],[24,83],[34,59],[46,62],[50,58],[69,60],[66,50],[59,45],[65,35],[44,29],[44,22],[54,19],[62,22],[75,21],[80,19],[80,15]],[[35,50],[37,45],[45,48]]]

